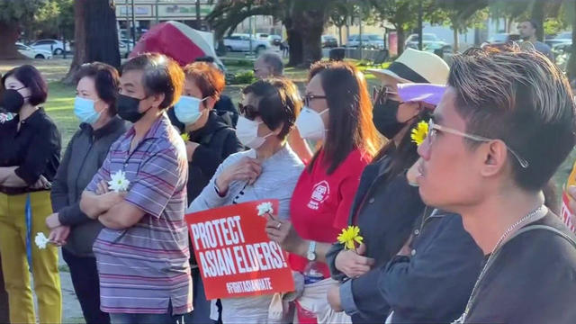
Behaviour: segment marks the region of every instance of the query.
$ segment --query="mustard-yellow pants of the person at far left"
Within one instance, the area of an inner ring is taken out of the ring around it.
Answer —
[[[40,323],[61,323],[62,294],[58,275],[58,248],[49,244],[40,249],[34,243],[36,233],[48,238],[46,217],[52,213],[48,191],[30,193],[31,259],[34,292],[38,298]],[[26,194],[0,193],[0,254],[4,284],[8,292],[10,322],[36,323],[28,260],[26,258]]]

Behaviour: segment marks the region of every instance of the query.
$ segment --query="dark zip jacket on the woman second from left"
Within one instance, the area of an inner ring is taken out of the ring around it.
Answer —
[[[50,193],[52,209],[58,220],[72,226],[65,248],[78,257],[91,257],[94,238],[102,224],[89,219],[80,211],[80,197],[86,185],[102,166],[110,146],[127,130],[119,117],[114,117],[103,128],[93,130],[87,123],[80,124],[64,153]]]

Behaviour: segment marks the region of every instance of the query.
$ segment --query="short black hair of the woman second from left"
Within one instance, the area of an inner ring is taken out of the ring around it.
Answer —
[[[108,103],[108,114],[115,116],[116,99],[118,99],[118,88],[120,86],[118,70],[101,62],[85,63],[76,72],[76,84],[86,76],[94,79],[96,94],[105,103]]]

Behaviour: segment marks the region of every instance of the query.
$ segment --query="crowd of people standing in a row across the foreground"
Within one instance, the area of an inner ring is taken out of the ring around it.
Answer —
[[[40,71],[2,76],[10,322],[36,322],[32,291],[40,323],[62,321],[58,247],[86,323],[576,322],[576,237],[548,190],[575,103],[549,58],[406,49],[368,71],[372,95],[351,63],[314,63],[302,95],[283,68],[257,59],[237,110],[210,59],[85,64],[62,157]],[[184,221],[261,199],[296,287],[280,315],[272,294],[208,300]],[[357,248],[335,243],[348,226]]]

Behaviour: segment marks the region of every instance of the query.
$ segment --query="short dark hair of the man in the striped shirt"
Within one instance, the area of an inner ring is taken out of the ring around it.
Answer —
[[[143,71],[142,85],[146,94],[164,94],[160,109],[171,107],[184,88],[184,72],[174,59],[158,53],[144,53],[130,58],[121,66],[121,73]]]

